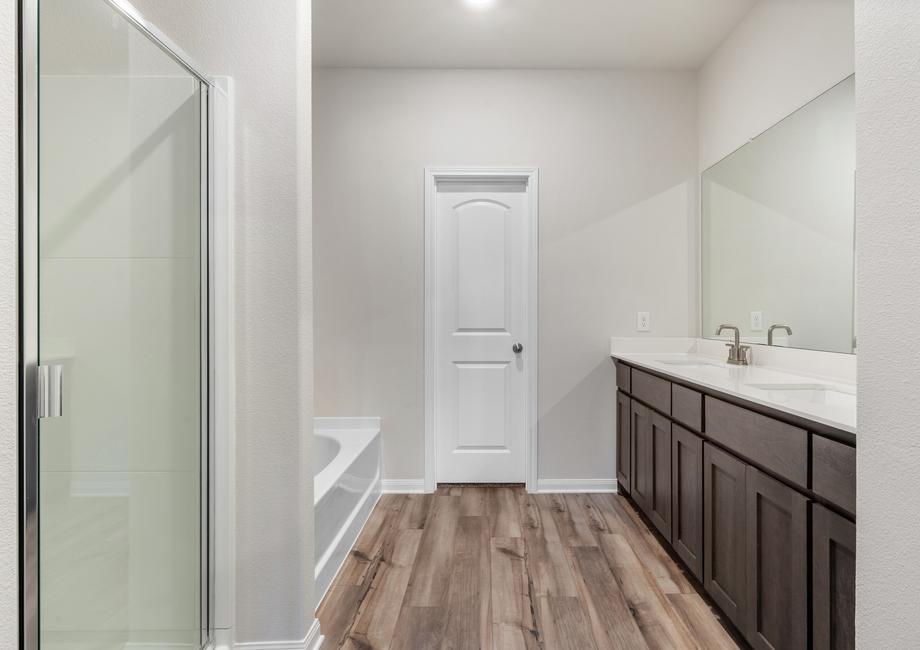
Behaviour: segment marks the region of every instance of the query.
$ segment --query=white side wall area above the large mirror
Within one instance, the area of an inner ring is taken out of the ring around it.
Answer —
[[[853,73],[853,0],[761,0],[699,71],[700,169]]]

